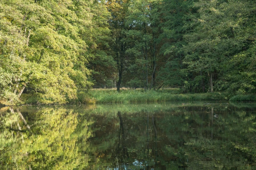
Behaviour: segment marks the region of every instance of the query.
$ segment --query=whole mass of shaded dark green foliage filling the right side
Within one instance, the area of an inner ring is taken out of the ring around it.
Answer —
[[[250,0],[163,1],[160,84],[190,92],[211,91],[211,84],[214,91],[255,92],[255,7]]]

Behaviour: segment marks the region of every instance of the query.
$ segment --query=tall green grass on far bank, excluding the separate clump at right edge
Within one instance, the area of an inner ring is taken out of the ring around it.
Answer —
[[[171,101],[211,101],[228,100],[224,93],[187,93],[175,94],[172,91],[138,91],[138,90],[94,90],[90,91],[90,96],[96,100],[96,103],[147,103],[147,102],[171,102]]]

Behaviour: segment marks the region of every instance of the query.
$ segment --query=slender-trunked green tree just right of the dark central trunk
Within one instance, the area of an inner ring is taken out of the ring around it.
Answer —
[[[130,27],[127,36],[128,42],[131,44],[128,53],[134,57],[130,61],[130,71],[137,69],[137,73],[133,75],[136,77],[133,79],[141,79],[142,77],[145,90],[153,87],[156,72],[156,37],[160,23],[159,3],[158,0],[131,1],[129,16],[127,17],[127,26]],[[150,73],[152,76],[149,78]]]

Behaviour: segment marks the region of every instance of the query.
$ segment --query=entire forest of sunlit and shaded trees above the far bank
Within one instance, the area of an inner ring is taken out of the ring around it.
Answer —
[[[0,103],[113,87],[256,100],[255,29],[254,0],[1,0]]]

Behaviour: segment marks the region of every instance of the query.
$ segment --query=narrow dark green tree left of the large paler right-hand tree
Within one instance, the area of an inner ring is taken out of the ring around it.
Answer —
[[[186,45],[183,36],[195,27],[191,15],[196,15],[193,2],[196,0],[163,0],[161,3],[161,34],[157,39],[161,47],[161,63],[157,81],[162,85],[187,88],[191,75],[183,70],[185,56],[182,47]]]

